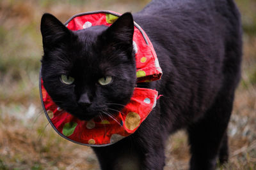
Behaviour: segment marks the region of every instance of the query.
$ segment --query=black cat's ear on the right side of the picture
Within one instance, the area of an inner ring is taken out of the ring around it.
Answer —
[[[132,46],[133,33],[134,23],[129,12],[120,16],[106,31],[108,40],[130,46]]]

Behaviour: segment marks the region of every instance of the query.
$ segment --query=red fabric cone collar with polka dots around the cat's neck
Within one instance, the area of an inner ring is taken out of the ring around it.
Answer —
[[[72,31],[94,25],[110,26],[120,14],[113,11],[80,13],[70,18],[65,25]],[[137,82],[159,80],[162,75],[157,55],[150,39],[134,22],[133,46],[136,52]],[[67,111],[61,110],[44,88],[40,75],[40,96],[45,115],[60,136],[74,143],[87,146],[107,146],[134,133],[156,106],[157,91],[134,88],[131,101],[122,112],[111,117],[95,117],[90,121],[79,120]]]

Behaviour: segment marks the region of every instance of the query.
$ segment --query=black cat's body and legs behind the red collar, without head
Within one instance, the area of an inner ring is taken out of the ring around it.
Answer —
[[[163,97],[134,134],[93,148],[100,166],[163,169],[165,141],[183,128],[191,145],[190,169],[214,169],[216,159],[228,157],[226,131],[240,78],[236,5],[232,0],[153,0],[133,18],[152,41],[163,69],[161,80],[138,86],[156,89]],[[42,64],[44,78],[49,62],[43,59]]]

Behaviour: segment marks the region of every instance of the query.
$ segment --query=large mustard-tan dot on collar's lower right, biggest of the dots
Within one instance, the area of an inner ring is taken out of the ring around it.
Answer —
[[[135,112],[129,112],[125,118],[125,127],[129,130],[133,130],[140,125],[140,115]]]

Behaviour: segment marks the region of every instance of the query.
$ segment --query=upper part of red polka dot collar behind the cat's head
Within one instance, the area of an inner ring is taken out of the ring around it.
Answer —
[[[66,23],[72,31],[86,29],[95,25],[110,26],[120,14],[113,11],[94,11],[81,13],[70,18]],[[137,81],[148,82],[159,80],[162,75],[157,55],[150,39],[141,27],[134,23],[133,46],[136,52]]]

